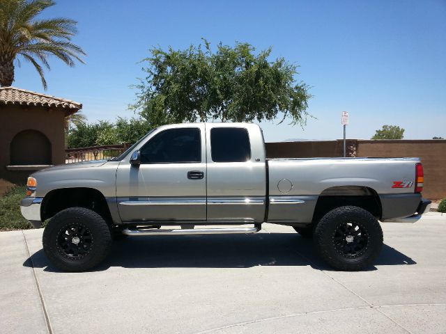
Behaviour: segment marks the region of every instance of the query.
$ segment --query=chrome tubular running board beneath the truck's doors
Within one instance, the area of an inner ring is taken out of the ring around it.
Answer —
[[[185,234],[247,234],[255,233],[261,230],[260,227],[252,228],[190,228],[190,229],[169,229],[169,230],[157,230],[148,228],[125,228],[123,234],[126,235],[185,235]]]

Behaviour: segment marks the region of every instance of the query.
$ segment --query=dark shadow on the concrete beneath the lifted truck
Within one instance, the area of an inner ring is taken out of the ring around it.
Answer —
[[[383,245],[376,265],[416,264],[398,250]],[[43,250],[31,255],[25,267],[60,272]],[[92,271],[125,268],[249,268],[256,266],[328,267],[316,254],[311,240],[296,233],[220,234],[129,237],[116,241],[107,260]],[[376,270],[371,267],[368,270]]]

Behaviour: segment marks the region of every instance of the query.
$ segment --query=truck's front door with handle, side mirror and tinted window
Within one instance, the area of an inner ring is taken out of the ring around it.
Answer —
[[[205,148],[203,124],[161,127],[137,145],[141,164],[130,164],[130,152],[116,173],[121,220],[206,221]]]

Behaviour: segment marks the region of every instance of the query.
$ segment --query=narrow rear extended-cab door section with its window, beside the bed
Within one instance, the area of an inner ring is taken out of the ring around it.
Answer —
[[[266,209],[266,157],[261,129],[206,123],[208,221],[261,223]]]

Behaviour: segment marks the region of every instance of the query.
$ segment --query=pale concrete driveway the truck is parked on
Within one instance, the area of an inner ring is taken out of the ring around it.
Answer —
[[[383,224],[376,267],[334,271],[312,242],[259,234],[133,237],[61,273],[42,230],[0,232],[2,333],[446,333],[446,216]]]

